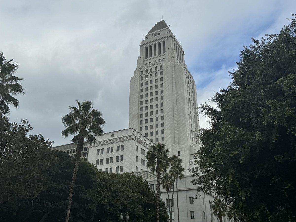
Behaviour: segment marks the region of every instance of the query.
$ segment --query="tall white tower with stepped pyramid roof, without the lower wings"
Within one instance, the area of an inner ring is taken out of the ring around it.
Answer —
[[[190,145],[198,143],[195,107],[195,82],[183,48],[165,21],[157,22],[141,42],[131,77],[128,127],[155,143],[165,143],[170,155],[189,160]]]

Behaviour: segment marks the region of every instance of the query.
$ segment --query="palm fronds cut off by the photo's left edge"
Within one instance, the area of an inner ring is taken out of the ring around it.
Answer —
[[[13,63],[13,59],[6,61],[3,52],[0,52],[0,107],[6,115],[10,113],[8,105],[13,104],[15,108],[19,107],[19,101],[13,96],[25,94],[25,89],[18,83],[24,79],[13,75],[16,70],[17,64]]]

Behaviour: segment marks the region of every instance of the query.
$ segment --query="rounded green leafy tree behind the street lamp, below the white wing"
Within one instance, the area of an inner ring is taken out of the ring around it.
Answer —
[[[128,213],[133,222],[157,220],[158,197],[147,181],[131,173],[98,172],[99,198],[94,221],[118,221],[120,213]],[[168,221],[167,208],[160,200],[160,221]]]

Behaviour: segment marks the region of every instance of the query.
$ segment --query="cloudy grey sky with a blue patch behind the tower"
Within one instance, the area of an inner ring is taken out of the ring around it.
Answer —
[[[162,18],[182,43],[200,104],[229,85],[227,72],[251,37],[278,33],[296,9],[292,0],[1,1],[0,51],[19,65],[26,90],[9,119],[29,120],[31,134],[54,146],[71,140],[61,136],[62,117],[76,99],[102,112],[105,133],[128,128],[142,35]],[[200,127],[208,126],[200,116]]]

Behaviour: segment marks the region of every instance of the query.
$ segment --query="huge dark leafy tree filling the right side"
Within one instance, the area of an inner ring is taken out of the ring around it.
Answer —
[[[192,183],[231,204],[241,221],[296,220],[296,16],[241,51],[232,82],[200,107]]]

